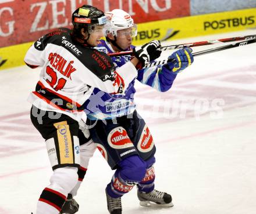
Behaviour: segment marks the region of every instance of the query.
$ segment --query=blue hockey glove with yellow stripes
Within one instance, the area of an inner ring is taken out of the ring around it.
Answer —
[[[172,55],[168,57],[170,62],[166,63],[164,67],[172,71],[173,74],[181,72],[193,63],[194,57],[191,55],[191,52],[191,48],[184,48],[173,52]]]

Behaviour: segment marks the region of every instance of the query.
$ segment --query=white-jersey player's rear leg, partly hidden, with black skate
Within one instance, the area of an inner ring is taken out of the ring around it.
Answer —
[[[83,182],[84,176],[86,175],[89,160],[93,157],[94,151],[96,150],[96,144],[93,142],[91,137],[85,137],[83,132],[79,129],[78,133],[80,143],[80,167],[77,171],[78,180],[76,186],[67,195],[65,204],[62,206],[61,213],[74,214],[79,211],[79,204],[74,200],[77,195],[77,191]]]

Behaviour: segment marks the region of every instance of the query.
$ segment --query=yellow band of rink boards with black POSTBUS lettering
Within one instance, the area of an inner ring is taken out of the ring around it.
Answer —
[[[152,39],[170,41],[222,32],[241,31],[256,27],[256,8],[222,13],[188,16],[138,24],[138,35],[134,45]],[[0,70],[22,66],[24,55],[33,42],[0,48]]]

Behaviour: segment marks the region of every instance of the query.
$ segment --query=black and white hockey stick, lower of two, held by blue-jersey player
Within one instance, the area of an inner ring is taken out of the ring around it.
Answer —
[[[251,43],[255,43],[256,42],[256,38],[250,39],[250,40],[246,40],[246,41],[241,41],[241,42],[236,42],[233,44],[229,44],[229,45],[225,45],[225,46],[220,46],[218,48],[211,48],[211,49],[207,49],[207,50],[202,50],[200,52],[195,52],[192,55],[193,56],[200,56],[200,55],[205,55],[207,53],[214,53],[214,52],[218,52],[221,50],[227,50],[230,48],[236,48],[239,46],[244,46],[244,45],[249,45]],[[149,67],[154,67],[154,66],[158,66],[158,65],[162,65],[168,62],[173,62],[175,59],[170,59],[170,60],[161,60],[161,61],[153,61],[152,63],[147,64],[144,68],[149,68]]]

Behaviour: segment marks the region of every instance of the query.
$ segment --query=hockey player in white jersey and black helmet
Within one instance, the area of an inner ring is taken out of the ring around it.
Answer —
[[[84,101],[95,87],[108,93],[123,93],[137,77],[138,60],[147,63],[151,55],[147,49],[153,53],[157,49],[154,43],[147,43],[144,49],[136,50],[137,59],[116,69],[110,57],[93,49],[103,36],[106,21],[101,10],[83,5],[72,14],[72,30],[60,28],[44,35],[24,58],[29,67],[41,67],[40,80],[29,96],[30,117],[45,139],[53,169],[50,184],[38,200],[36,214],[61,211],[79,179],[78,168],[85,171],[88,164],[88,158],[84,160],[82,156],[93,154],[88,152],[94,150],[90,137],[86,139],[79,130],[80,119],[86,120]]]

